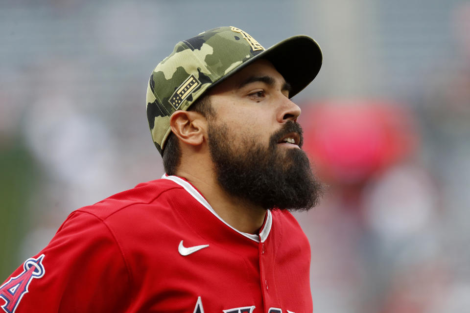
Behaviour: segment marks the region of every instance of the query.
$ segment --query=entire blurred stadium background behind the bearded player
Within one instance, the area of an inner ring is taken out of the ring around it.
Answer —
[[[0,281],[72,210],[164,173],[148,77],[178,41],[221,25],[264,47],[307,34],[323,49],[294,98],[328,185],[296,214],[314,312],[469,312],[463,0],[1,1]]]

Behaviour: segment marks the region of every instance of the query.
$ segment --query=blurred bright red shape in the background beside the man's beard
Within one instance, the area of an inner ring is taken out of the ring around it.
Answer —
[[[304,149],[322,179],[332,184],[362,184],[411,154],[417,144],[408,112],[385,101],[310,104],[301,121]]]

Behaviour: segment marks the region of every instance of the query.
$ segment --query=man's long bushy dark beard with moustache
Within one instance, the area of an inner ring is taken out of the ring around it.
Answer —
[[[316,204],[323,193],[322,184],[312,173],[310,161],[301,149],[283,149],[278,142],[286,134],[300,134],[298,123],[287,121],[272,134],[269,146],[255,139],[235,147],[235,136],[226,125],[209,123],[209,149],[220,186],[230,195],[263,209],[305,211]]]

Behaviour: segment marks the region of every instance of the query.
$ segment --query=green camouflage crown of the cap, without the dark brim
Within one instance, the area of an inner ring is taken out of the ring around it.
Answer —
[[[155,67],[147,87],[147,118],[160,154],[171,131],[171,114],[188,110],[206,89],[262,51],[256,40],[235,27],[214,28],[175,46]]]

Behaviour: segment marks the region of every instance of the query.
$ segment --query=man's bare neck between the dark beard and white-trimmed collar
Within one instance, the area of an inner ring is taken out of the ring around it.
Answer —
[[[227,224],[245,233],[258,233],[266,210],[228,194],[220,187],[212,170],[194,169],[194,166],[188,170],[181,166],[176,175],[196,187]]]

